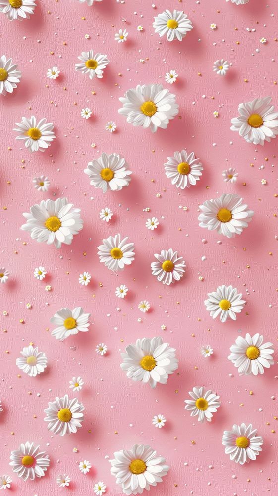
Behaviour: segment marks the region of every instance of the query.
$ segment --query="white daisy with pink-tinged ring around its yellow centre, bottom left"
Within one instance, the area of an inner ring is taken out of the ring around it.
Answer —
[[[40,446],[35,446],[33,442],[20,444],[19,448],[10,454],[10,465],[13,472],[23,481],[35,477],[43,477],[49,467],[49,457],[45,451],[40,450]]]

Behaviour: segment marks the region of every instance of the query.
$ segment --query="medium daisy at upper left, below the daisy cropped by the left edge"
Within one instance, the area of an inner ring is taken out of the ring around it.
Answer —
[[[48,123],[47,119],[41,119],[37,124],[35,116],[31,116],[30,119],[22,117],[22,121],[15,125],[17,127],[13,130],[19,132],[15,139],[23,140],[30,152],[44,152],[56,138],[53,132],[54,125]]]

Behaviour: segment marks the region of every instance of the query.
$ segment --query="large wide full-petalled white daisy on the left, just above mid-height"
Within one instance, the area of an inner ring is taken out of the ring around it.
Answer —
[[[61,248],[62,243],[71,245],[73,235],[83,229],[80,208],[74,208],[67,198],[42,200],[30,208],[30,213],[23,213],[27,223],[21,226],[23,231],[30,231],[31,238],[39,243]]]

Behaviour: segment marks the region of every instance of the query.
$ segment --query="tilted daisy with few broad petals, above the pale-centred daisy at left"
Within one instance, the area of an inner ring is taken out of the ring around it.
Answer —
[[[70,310],[67,307],[61,308],[61,310],[57,310],[54,317],[51,317],[50,319],[52,324],[58,326],[51,332],[51,335],[55,336],[56,339],[63,341],[72,334],[88,332],[90,316],[90,313],[84,313],[82,307],[76,307],[73,310]]]

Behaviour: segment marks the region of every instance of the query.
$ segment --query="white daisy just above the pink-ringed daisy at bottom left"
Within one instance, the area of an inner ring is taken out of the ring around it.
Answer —
[[[83,410],[84,406],[77,398],[70,400],[67,394],[63,398],[56,396],[55,401],[49,401],[48,408],[44,410],[48,430],[61,436],[76,433],[82,427]]]

